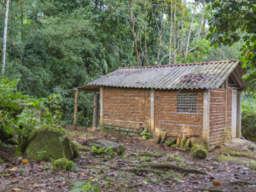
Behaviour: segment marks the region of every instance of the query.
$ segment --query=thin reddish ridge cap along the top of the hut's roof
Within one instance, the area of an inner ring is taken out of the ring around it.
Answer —
[[[131,69],[131,68],[158,68],[158,67],[173,67],[173,66],[189,66],[189,65],[204,65],[204,64],[214,64],[220,62],[233,62],[238,60],[226,60],[226,61],[205,61],[205,62],[190,62],[190,63],[177,63],[169,65],[157,65],[157,66],[139,66],[139,67],[119,67],[119,69]]]

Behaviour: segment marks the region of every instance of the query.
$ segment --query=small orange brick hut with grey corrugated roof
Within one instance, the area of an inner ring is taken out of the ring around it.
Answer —
[[[241,137],[244,73],[239,61],[119,67],[77,93],[96,92],[94,126],[99,108],[100,125],[108,129],[136,132],[147,127],[168,137],[196,137],[214,147]]]

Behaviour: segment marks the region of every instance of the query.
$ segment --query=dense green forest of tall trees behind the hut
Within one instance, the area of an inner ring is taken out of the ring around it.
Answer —
[[[30,96],[57,94],[64,125],[72,89],[118,67],[240,59],[255,84],[253,1],[2,0],[1,44],[7,3],[4,77]],[[79,96],[79,123],[90,125],[92,96]]]

